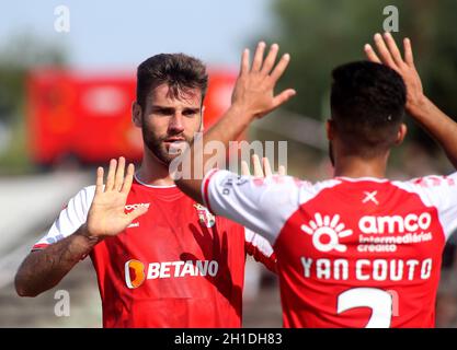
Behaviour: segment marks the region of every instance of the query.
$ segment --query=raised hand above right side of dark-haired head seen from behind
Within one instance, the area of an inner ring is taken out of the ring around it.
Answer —
[[[421,78],[414,66],[411,40],[403,39],[404,58],[390,33],[375,35],[377,54],[369,44],[365,45],[365,54],[372,62],[384,63],[396,70],[407,85],[407,110],[419,107],[424,101]]]

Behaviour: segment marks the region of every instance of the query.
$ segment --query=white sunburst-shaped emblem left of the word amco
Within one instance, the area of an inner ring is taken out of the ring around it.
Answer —
[[[312,244],[319,252],[346,252],[347,247],[340,244],[340,238],[352,235],[352,230],[345,229],[344,223],[340,223],[340,215],[333,217],[320,213],[315,214],[315,220],[301,225],[301,231],[312,236]]]

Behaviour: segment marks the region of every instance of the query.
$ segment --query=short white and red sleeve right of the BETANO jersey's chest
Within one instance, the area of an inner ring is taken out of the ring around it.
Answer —
[[[269,241],[244,228],[244,247],[255,261],[262,262],[270,271],[276,273],[276,254]]]

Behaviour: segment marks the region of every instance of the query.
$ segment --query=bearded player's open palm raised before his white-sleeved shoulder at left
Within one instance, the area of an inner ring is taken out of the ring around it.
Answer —
[[[98,238],[114,236],[147,212],[148,209],[140,206],[130,213],[125,213],[134,173],[135,166],[130,163],[125,174],[124,158],[119,158],[118,161],[111,160],[106,184],[103,184],[103,167],[96,170],[95,196],[85,223],[88,236]]]

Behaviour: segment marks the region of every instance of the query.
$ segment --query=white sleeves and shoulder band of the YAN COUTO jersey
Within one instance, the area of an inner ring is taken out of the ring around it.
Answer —
[[[216,214],[240,222],[245,228],[264,235],[274,245],[284,224],[299,207],[323,189],[334,187],[346,179],[340,178],[312,185],[290,176],[254,178],[239,176],[228,171],[215,171],[205,177],[202,194]],[[409,182],[366,177],[350,178],[350,180],[390,183],[408,192],[416,194],[425,206],[437,209],[446,240],[457,228],[457,173]]]

